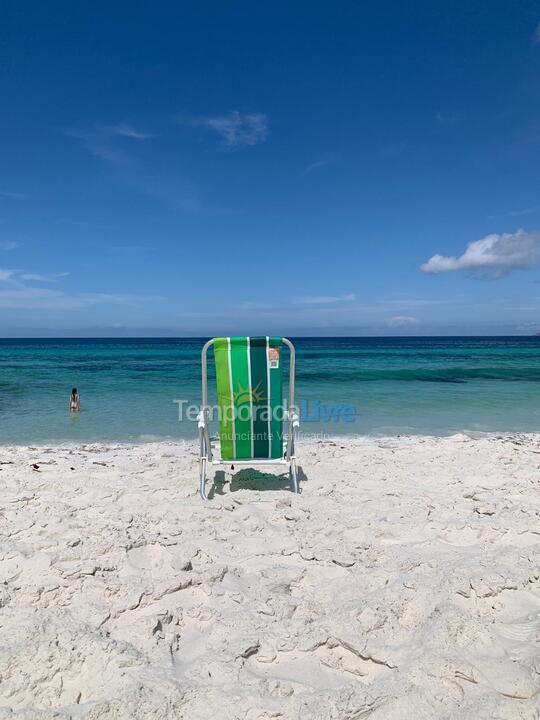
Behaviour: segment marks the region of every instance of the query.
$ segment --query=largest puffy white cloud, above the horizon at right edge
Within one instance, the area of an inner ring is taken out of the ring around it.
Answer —
[[[478,277],[499,278],[512,270],[531,267],[539,260],[540,233],[518,230],[475,240],[459,257],[433,255],[420,269],[427,273],[468,270]]]

